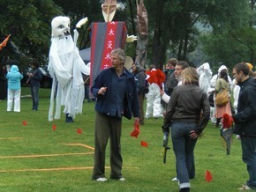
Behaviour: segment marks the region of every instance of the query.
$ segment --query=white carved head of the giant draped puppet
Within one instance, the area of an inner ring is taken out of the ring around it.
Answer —
[[[51,21],[51,36],[64,38],[70,35],[71,20],[68,17],[58,16]]]

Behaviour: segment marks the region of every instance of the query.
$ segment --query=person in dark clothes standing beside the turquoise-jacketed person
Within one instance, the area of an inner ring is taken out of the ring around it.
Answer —
[[[37,61],[33,61],[30,63],[32,66],[32,70],[27,73],[27,76],[29,77],[28,83],[30,86],[31,96],[33,100],[33,107],[32,110],[37,111],[38,110],[38,103],[39,103],[39,87],[40,87],[40,81],[41,81],[41,70],[39,69],[39,63]]]

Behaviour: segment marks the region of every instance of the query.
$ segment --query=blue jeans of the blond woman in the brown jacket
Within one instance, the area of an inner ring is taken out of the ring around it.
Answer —
[[[171,124],[171,138],[176,156],[179,188],[190,188],[190,174],[194,171],[193,151],[197,142],[197,139],[190,137],[190,131],[197,127],[196,123],[191,122],[173,122]]]

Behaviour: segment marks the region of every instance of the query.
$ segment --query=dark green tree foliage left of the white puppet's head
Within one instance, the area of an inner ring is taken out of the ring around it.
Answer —
[[[17,27],[11,42],[24,63],[30,58],[44,62],[49,52],[50,22],[62,14],[60,8],[52,0],[0,0],[0,11],[0,33],[7,35],[11,27]]]

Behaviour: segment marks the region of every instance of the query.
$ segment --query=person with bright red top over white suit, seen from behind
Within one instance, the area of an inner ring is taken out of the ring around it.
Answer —
[[[160,90],[165,80],[162,70],[156,70],[154,64],[149,66],[147,70],[147,81],[149,83],[149,92],[145,95],[147,98],[146,118],[153,116],[154,118],[162,117],[162,105]]]

